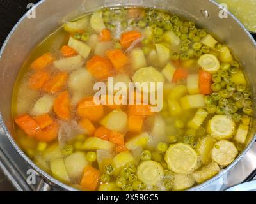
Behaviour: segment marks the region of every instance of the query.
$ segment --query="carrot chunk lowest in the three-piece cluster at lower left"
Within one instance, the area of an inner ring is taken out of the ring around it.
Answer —
[[[52,122],[51,126],[47,126],[38,133],[36,133],[35,138],[41,142],[52,142],[58,137],[59,124],[57,122]]]

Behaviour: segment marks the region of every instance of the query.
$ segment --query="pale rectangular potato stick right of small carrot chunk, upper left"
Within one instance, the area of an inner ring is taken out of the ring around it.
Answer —
[[[88,45],[72,37],[69,38],[68,46],[76,50],[84,59],[86,59],[91,52],[91,48]]]

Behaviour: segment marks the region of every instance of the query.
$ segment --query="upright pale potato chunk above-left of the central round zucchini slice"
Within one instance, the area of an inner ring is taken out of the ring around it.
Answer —
[[[134,48],[130,54],[131,66],[134,71],[147,66],[144,52],[140,48]]]

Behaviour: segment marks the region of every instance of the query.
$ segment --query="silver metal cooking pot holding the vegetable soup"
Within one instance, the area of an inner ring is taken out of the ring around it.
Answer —
[[[30,164],[42,178],[40,182],[42,185],[40,185],[38,190],[47,191],[51,189],[51,185],[56,185],[63,190],[76,191],[76,189],[61,183],[40,170],[40,168],[20,150],[20,147],[15,142],[11,118],[13,85],[15,84],[22,64],[29,56],[31,50],[33,50],[40,41],[44,40],[45,36],[55,31],[63,22],[72,20],[72,18],[78,17],[84,12],[97,10],[103,6],[145,6],[162,8],[202,25],[210,32],[216,34],[216,36],[227,43],[234,51],[237,59],[241,62],[247,73],[248,80],[252,85],[253,96],[256,94],[256,84],[254,83],[256,78],[256,43],[244,26],[233,15],[228,13],[228,18],[219,18],[221,9],[218,7],[218,4],[214,3],[212,0],[76,0],[72,1],[72,3],[70,3],[70,0],[42,0],[40,3],[36,4],[36,18],[29,19],[24,15],[9,34],[0,53],[1,126],[13,147],[15,147],[17,152],[19,152],[24,160]],[[253,98],[253,104],[255,104],[255,98]],[[255,117],[255,108],[253,108],[253,110],[253,116]],[[212,179],[204,182],[204,184],[200,184],[189,190],[196,191],[206,185],[213,185],[214,181],[230,171],[244,154],[246,154],[255,141],[255,127],[253,121],[252,129],[247,139],[246,149],[244,149],[232,164]]]

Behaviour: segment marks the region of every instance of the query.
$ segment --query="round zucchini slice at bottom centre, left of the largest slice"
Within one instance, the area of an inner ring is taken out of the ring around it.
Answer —
[[[137,176],[147,186],[154,186],[163,178],[164,169],[156,161],[143,161],[138,166]]]

